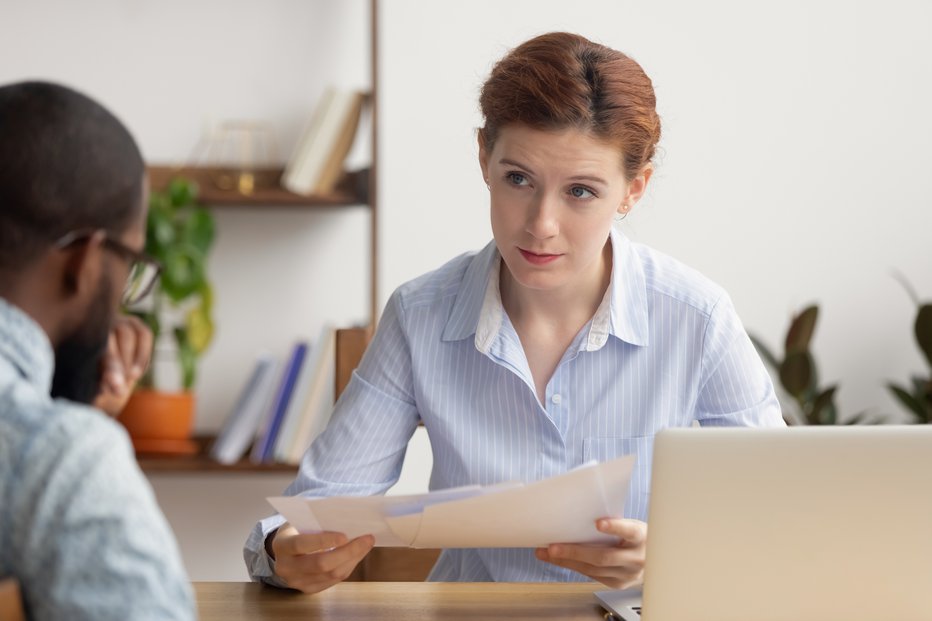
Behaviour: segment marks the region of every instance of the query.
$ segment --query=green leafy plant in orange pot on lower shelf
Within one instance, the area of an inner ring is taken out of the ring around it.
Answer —
[[[197,200],[194,182],[176,177],[164,190],[153,190],[146,223],[146,253],[162,263],[162,274],[142,308],[127,309],[153,332],[153,364],[130,398],[120,421],[140,452],[192,452],[188,439],[194,418],[193,388],[198,358],[210,344],[213,291],[207,256],[214,241],[214,219]],[[172,344],[180,381],[158,377],[163,343]],[[166,384],[181,390],[166,391]]]

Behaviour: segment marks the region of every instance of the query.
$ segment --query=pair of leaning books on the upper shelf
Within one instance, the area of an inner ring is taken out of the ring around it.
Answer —
[[[324,92],[285,166],[285,189],[304,195],[333,191],[353,145],[365,100],[366,94],[357,90],[330,87]]]

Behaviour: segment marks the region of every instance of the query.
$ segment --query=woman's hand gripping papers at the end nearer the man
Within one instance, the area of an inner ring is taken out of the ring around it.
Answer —
[[[288,586],[317,593],[346,580],[373,545],[372,535],[352,541],[343,533],[302,535],[285,523],[272,539],[271,555],[275,559],[275,574]]]

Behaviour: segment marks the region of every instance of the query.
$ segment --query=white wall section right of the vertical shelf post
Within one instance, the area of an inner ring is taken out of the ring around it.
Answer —
[[[479,87],[506,49],[572,30],[633,56],[657,92],[657,172],[624,230],[723,285],[774,346],[818,302],[814,350],[843,415],[902,418],[883,382],[926,367],[890,272],[932,300],[932,3],[388,0],[381,12],[383,298],[490,238]]]

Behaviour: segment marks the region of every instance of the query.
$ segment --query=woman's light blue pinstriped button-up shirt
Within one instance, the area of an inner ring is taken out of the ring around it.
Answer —
[[[326,431],[286,494],[382,494],[423,421],[432,490],[536,481],[589,460],[637,456],[625,516],[647,520],[654,435],[666,427],[780,426],[770,376],[717,285],[613,231],[612,277],[541,403],[502,307],[494,242],[392,295]],[[254,578],[281,584],[260,522],[246,544]],[[270,578],[271,577],[271,578]],[[573,581],[530,549],[444,550],[440,581]]]

